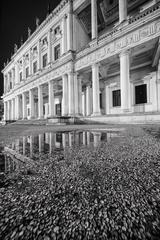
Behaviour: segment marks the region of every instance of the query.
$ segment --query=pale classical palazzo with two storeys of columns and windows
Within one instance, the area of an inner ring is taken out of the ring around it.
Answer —
[[[62,0],[2,72],[5,120],[160,120],[160,1]]]

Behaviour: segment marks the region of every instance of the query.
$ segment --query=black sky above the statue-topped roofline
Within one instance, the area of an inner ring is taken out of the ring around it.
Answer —
[[[27,39],[28,27],[36,29],[36,17],[40,23],[46,18],[48,6],[53,10],[61,0],[1,0],[0,1],[0,72],[4,62],[11,59],[14,44],[20,47],[21,38]],[[3,94],[3,74],[0,73],[0,96]]]

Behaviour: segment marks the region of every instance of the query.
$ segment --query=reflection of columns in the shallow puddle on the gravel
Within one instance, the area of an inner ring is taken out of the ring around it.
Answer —
[[[23,136],[4,147],[0,155],[0,171],[13,172],[27,159],[38,160],[42,154],[54,154],[74,146],[98,147],[101,142],[110,142],[120,137],[117,132],[72,131],[46,132],[38,135]]]

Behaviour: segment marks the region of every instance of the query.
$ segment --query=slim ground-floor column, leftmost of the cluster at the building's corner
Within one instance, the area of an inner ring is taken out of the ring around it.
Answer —
[[[62,76],[62,116],[68,114],[68,77],[67,75]]]

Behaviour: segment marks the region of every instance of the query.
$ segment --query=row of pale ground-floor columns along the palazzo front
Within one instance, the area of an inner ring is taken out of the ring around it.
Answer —
[[[120,89],[121,89],[121,110],[122,113],[129,111],[131,108],[131,92],[130,92],[130,56],[129,51],[120,53]],[[83,74],[79,75],[70,72],[62,76],[62,116],[99,116],[100,110],[100,81],[99,67],[96,63],[91,66],[92,81],[91,85],[86,85],[85,90],[82,88]],[[48,83],[48,114],[47,117],[56,116],[55,112],[55,90],[54,84],[56,80],[50,80]],[[37,91],[38,97],[38,116],[35,114],[34,92]],[[83,90],[82,90],[83,89]],[[106,88],[105,102],[107,105],[108,95]],[[27,96],[29,99],[30,114],[27,113]],[[105,113],[107,114],[107,112]],[[44,118],[43,113],[43,85],[39,85],[29,89],[16,97],[4,102],[4,119]]]

